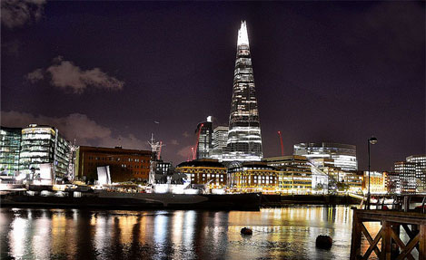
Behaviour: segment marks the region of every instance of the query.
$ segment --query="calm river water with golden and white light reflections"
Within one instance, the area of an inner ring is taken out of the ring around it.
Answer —
[[[240,234],[244,226],[253,236]],[[332,236],[331,250],[315,248],[318,235]],[[1,259],[342,260],[349,258],[351,235],[352,210],[345,206],[259,212],[0,208]]]

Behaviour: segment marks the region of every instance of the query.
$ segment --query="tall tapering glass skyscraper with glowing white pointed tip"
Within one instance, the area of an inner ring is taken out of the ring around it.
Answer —
[[[247,25],[238,31],[237,54],[233,72],[233,101],[229,116],[229,133],[223,160],[261,160],[262,137],[254,89],[252,58]]]

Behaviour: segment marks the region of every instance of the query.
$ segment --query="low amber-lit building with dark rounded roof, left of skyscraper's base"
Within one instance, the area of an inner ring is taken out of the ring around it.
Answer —
[[[227,184],[226,167],[217,159],[194,159],[185,161],[175,169],[186,174],[191,184],[207,185],[208,188],[224,188]]]

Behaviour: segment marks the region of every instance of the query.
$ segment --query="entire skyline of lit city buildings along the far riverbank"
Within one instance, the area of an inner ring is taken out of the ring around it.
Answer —
[[[356,147],[332,142],[294,144],[293,154],[263,158],[253,65],[245,22],[238,32],[229,124],[214,125],[211,116],[198,123],[191,157],[175,168],[161,159],[161,142],[152,150],[77,147],[52,126],[2,127],[2,179],[46,178],[53,182],[96,184],[100,170],[108,181],[184,184],[232,192],[327,194],[337,192],[426,192],[426,155],[394,163],[392,171],[358,169]],[[107,168],[107,169],[106,169]]]

